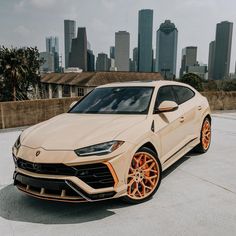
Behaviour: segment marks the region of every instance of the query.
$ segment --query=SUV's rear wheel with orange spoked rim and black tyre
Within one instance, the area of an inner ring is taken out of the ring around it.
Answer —
[[[202,123],[200,143],[196,146],[195,151],[206,153],[211,144],[211,121],[206,117]]]

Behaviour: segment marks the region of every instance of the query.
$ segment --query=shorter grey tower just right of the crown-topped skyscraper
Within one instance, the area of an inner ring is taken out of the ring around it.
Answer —
[[[180,78],[187,72],[188,66],[197,64],[197,47],[190,46],[182,50]]]

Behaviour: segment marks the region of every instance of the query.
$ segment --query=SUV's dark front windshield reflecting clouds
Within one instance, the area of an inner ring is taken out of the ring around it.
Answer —
[[[94,89],[70,113],[147,114],[153,87],[107,87]]]

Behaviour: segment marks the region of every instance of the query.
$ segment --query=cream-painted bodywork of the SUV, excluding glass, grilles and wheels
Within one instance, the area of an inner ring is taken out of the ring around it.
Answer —
[[[21,147],[19,150],[13,148],[13,154],[17,158],[33,163],[63,163],[68,166],[104,163],[111,168],[109,169],[115,180],[113,187],[94,189],[75,176],[36,174],[19,168],[16,171],[36,178],[69,179],[88,194],[114,190],[116,192],[114,197],[126,195],[130,163],[141,146],[149,142],[155,147],[164,170],[200,142],[202,122],[210,114],[206,98],[188,85],[184,86],[190,87],[196,93],[193,99],[181,104],[175,111],[153,114],[157,91],[165,85],[183,84],[155,81],[101,86],[155,87],[148,114],[62,114],[25,130],[21,136]],[[151,130],[153,121],[154,132]],[[116,151],[104,156],[78,157],[74,152],[77,148],[111,140],[122,140],[125,143]],[[40,151],[40,155],[36,157],[37,151]]]

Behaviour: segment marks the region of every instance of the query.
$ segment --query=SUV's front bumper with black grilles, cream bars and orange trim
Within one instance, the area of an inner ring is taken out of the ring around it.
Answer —
[[[15,159],[14,184],[31,196],[66,202],[98,201],[126,194],[125,154],[102,162],[67,165]]]

